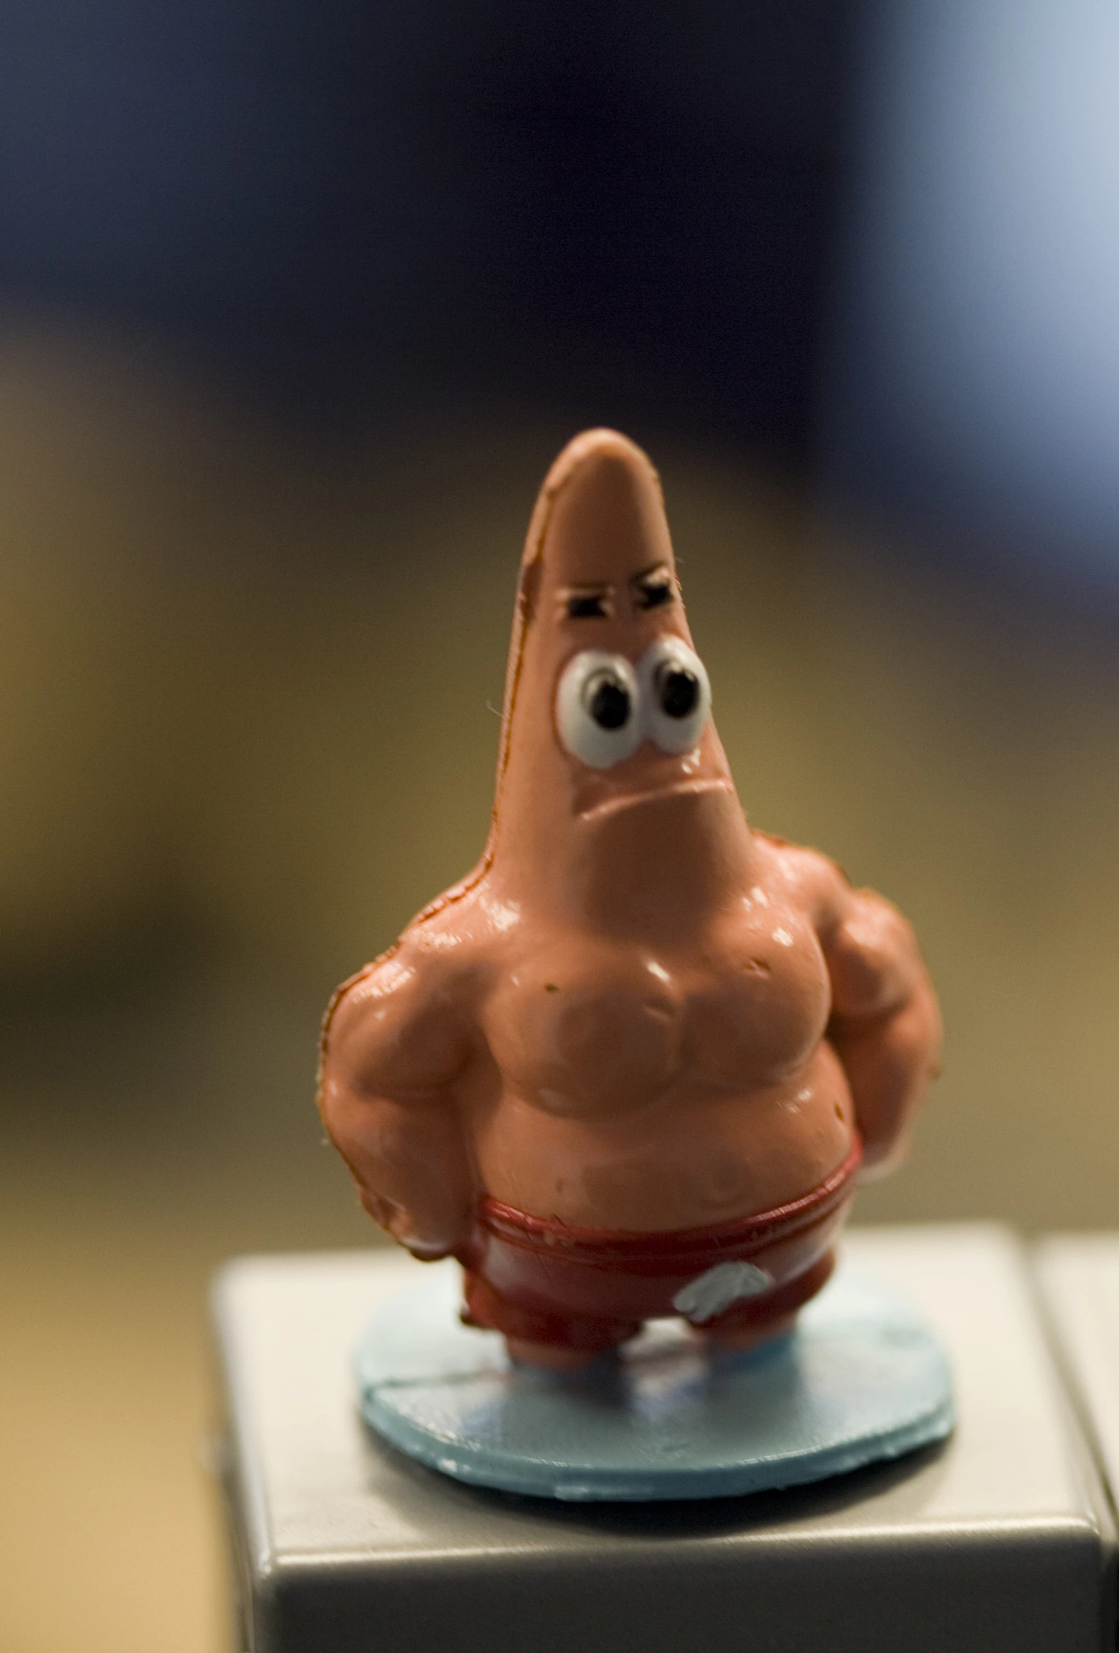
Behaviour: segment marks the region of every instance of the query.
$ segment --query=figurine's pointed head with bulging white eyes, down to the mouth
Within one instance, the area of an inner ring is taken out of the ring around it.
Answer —
[[[585,431],[549,471],[529,527],[494,850],[522,860],[577,840],[590,853],[587,830],[607,817],[711,792],[732,797],[732,782],[659,479],[625,436]],[[661,813],[668,826],[678,810]]]

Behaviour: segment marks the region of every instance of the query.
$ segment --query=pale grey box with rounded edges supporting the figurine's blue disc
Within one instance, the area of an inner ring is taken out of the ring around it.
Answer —
[[[357,1412],[350,1351],[420,1268],[246,1258],[215,1291],[251,1653],[1099,1653],[1116,1534],[1017,1241],[855,1231],[954,1364],[944,1448],[815,1488],[554,1504],[423,1470]],[[1119,1436],[1117,1436],[1119,1440]]]

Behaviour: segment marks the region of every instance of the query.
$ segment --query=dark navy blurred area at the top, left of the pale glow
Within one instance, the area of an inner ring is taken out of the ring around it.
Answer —
[[[296,398],[807,451],[841,0],[8,0],[0,284]]]

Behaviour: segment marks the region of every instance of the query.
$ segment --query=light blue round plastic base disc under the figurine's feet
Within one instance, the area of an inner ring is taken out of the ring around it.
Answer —
[[[435,1265],[357,1349],[362,1410],[420,1463],[564,1499],[726,1498],[797,1486],[944,1440],[940,1344],[896,1291],[841,1268],[797,1331],[714,1360],[676,1321],[575,1377],[511,1365],[458,1321],[460,1270]]]

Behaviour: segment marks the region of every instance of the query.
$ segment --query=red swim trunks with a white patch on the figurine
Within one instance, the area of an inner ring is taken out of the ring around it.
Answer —
[[[716,1228],[575,1228],[484,1198],[464,1268],[463,1319],[565,1349],[612,1349],[679,1314],[707,1332],[764,1327],[823,1286],[855,1195],[861,1144],[818,1187]]]

